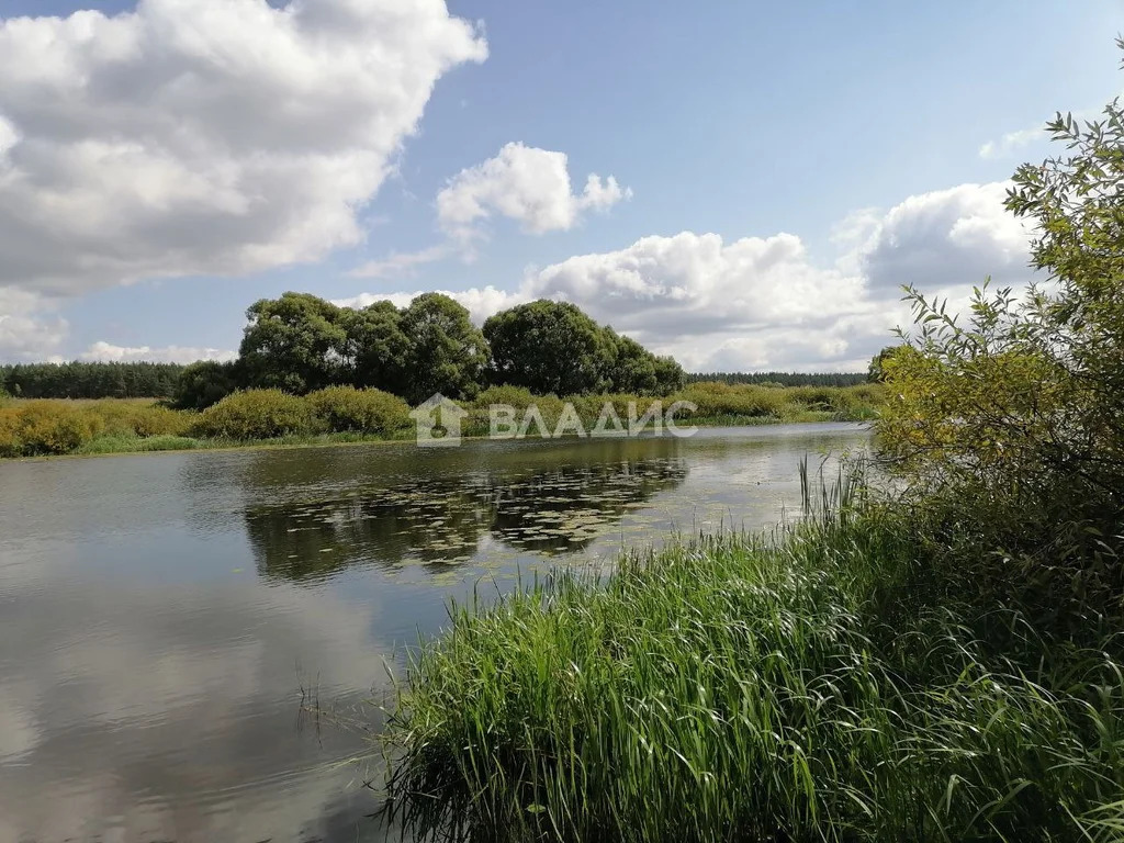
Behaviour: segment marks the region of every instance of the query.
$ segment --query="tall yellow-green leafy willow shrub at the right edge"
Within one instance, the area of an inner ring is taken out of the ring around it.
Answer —
[[[1070,635],[1124,614],[1124,106],[1048,129],[1064,152],[1021,166],[1006,200],[1041,285],[985,283],[963,319],[907,288],[878,433],[918,511],[943,517],[950,589]]]

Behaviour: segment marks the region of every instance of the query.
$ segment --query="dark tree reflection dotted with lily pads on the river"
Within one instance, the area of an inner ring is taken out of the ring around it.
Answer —
[[[471,560],[487,535],[514,551],[582,550],[629,507],[687,477],[681,459],[560,465],[529,477],[482,471],[375,484],[245,510],[257,570],[289,580],[350,565],[430,569]]]

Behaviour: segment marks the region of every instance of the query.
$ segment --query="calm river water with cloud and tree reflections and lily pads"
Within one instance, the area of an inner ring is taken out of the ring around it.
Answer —
[[[851,425],[0,464],[0,841],[355,841],[450,596],[776,523]],[[307,714],[317,703],[330,717]],[[341,724],[350,724],[342,726]]]

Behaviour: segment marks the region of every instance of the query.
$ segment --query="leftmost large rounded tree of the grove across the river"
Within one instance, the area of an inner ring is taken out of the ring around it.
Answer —
[[[239,362],[250,386],[305,393],[344,377],[346,317],[330,301],[287,292],[255,302],[246,318]]]

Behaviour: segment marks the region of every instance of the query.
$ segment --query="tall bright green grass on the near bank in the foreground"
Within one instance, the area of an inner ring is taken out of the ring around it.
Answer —
[[[1019,655],[995,652],[862,488],[452,607],[390,720],[387,815],[433,840],[1120,840],[1122,665],[1015,611]]]

